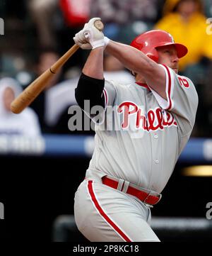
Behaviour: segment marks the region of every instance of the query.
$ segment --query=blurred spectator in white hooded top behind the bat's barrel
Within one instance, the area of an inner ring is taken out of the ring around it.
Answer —
[[[11,102],[22,91],[15,79],[5,77],[0,79],[0,134],[4,135],[40,135],[40,125],[37,115],[31,108],[18,115],[10,110]]]

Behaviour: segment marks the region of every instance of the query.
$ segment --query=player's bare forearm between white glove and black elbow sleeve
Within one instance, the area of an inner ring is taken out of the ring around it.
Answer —
[[[83,74],[96,79],[104,79],[103,47],[95,48],[90,52],[86,64],[83,67]]]

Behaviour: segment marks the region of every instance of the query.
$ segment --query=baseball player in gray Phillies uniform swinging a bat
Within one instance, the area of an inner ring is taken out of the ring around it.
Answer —
[[[151,207],[189,140],[198,105],[192,81],[177,74],[187,48],[163,30],[143,33],[131,45],[117,43],[95,28],[97,20],[73,38],[82,49],[92,48],[76,101],[83,108],[89,99],[105,116],[96,121],[93,157],[75,194],[76,225],[95,242],[159,241],[149,224]],[[136,82],[105,81],[104,50],[130,69]]]

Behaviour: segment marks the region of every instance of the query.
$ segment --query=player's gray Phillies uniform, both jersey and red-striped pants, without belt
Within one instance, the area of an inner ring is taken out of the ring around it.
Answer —
[[[167,100],[151,84],[105,82],[105,119],[96,124],[95,151],[86,179],[75,194],[78,229],[90,241],[159,241],[147,204],[105,186],[102,177],[160,193],[194,126],[198,96],[194,84],[161,65]]]

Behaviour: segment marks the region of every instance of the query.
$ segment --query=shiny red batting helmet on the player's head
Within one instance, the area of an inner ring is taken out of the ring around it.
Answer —
[[[188,49],[180,43],[175,43],[172,35],[164,30],[150,30],[138,35],[130,44],[132,47],[141,50],[146,56],[158,62],[157,48],[164,45],[175,45],[177,56],[183,57]]]

